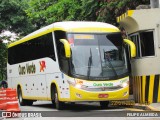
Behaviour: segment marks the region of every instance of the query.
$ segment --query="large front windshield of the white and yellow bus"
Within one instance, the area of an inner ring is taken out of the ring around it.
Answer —
[[[120,33],[68,34],[71,73],[89,80],[118,79],[128,74]]]

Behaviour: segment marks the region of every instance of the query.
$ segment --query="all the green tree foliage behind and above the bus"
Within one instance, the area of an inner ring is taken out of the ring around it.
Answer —
[[[1,0],[0,33],[26,35],[58,21],[103,21],[117,25],[116,17],[150,0]],[[1,38],[3,39],[3,38]],[[0,40],[1,40],[0,39]],[[9,38],[8,38],[9,39]],[[0,42],[0,77],[6,76],[6,45]],[[2,79],[0,78],[0,79]]]

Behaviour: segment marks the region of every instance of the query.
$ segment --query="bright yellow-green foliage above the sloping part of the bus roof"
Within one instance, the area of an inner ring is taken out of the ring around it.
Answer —
[[[28,3],[26,13],[37,29],[53,22],[77,20],[80,13],[79,0],[34,0]]]

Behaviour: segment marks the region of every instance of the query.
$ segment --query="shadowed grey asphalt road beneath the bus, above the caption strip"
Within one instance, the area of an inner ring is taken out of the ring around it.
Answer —
[[[111,106],[108,108],[102,109],[99,105],[99,102],[78,102],[75,104],[65,103],[63,110],[57,110],[50,101],[37,101],[34,102],[32,106],[21,106],[22,111],[54,111],[55,113],[81,113],[81,112],[95,112],[95,111],[129,111],[129,106]],[[73,114],[74,115],[74,114]],[[80,115],[81,116],[81,115]]]

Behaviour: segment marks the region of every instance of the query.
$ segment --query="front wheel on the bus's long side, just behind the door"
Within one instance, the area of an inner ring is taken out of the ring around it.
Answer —
[[[64,102],[59,101],[57,89],[55,89],[54,100],[55,100],[54,103],[55,103],[56,109],[62,110],[64,107]]]

